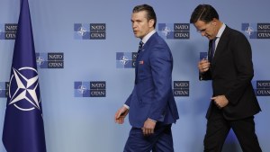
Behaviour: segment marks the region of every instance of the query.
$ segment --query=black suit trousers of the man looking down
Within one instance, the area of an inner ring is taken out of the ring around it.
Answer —
[[[207,121],[203,141],[204,152],[220,152],[230,129],[234,131],[243,152],[262,151],[255,132],[254,116],[228,121],[224,119],[222,111],[214,105]]]

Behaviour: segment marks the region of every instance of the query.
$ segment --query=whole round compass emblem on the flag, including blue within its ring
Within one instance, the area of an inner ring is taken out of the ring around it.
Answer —
[[[27,76],[29,74],[33,76]],[[8,105],[14,105],[21,111],[32,111],[34,109],[40,110],[40,96],[39,91],[39,76],[38,71],[32,67],[21,67],[15,69],[13,67],[13,75],[10,78]]]

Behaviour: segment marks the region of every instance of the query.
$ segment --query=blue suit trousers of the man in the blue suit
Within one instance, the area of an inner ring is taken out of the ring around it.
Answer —
[[[124,152],[174,152],[171,124],[159,125],[154,134],[144,136],[141,129],[131,128]]]

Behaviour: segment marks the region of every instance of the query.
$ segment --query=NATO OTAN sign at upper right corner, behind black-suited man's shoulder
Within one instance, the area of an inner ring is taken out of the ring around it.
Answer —
[[[242,23],[241,30],[249,39],[270,39],[270,23]]]

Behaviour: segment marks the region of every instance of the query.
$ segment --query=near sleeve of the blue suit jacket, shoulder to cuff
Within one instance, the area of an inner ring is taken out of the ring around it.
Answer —
[[[173,58],[165,45],[157,45],[149,58],[153,83],[155,85],[153,103],[149,118],[163,121],[166,112],[168,94],[171,91]]]

